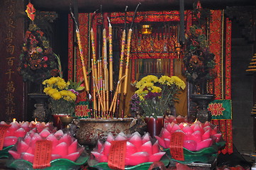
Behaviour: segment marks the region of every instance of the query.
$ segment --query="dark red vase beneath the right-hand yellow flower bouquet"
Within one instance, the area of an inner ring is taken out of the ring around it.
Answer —
[[[147,123],[147,131],[150,133],[151,137],[160,135],[162,128],[164,127],[164,116],[145,117],[145,123]]]

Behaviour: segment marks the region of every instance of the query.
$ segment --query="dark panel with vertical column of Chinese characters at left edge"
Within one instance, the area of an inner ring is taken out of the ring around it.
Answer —
[[[1,1],[0,45],[0,120],[23,120],[23,78],[17,67],[23,43],[24,21],[18,11],[23,11],[23,1]]]

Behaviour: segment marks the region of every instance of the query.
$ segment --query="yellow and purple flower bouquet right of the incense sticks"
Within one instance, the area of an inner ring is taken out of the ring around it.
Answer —
[[[144,115],[153,116],[165,115],[168,108],[178,100],[177,94],[186,88],[182,79],[176,76],[156,76],[148,75],[143,77],[135,87],[138,88],[131,98],[132,111],[143,109]]]

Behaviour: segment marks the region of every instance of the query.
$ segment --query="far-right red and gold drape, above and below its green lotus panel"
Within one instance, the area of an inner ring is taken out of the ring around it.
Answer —
[[[230,99],[231,98],[231,21],[226,18],[226,31],[222,30],[222,11],[211,11],[210,23],[210,51],[215,55],[216,61],[216,78],[213,84],[210,84],[210,93],[215,94],[215,99]],[[226,55],[221,53],[221,33],[226,33]],[[224,59],[222,57],[225,57]],[[222,66],[225,61],[225,67]],[[225,85],[225,86],[224,86]],[[221,150],[223,154],[233,153],[233,134],[232,134],[232,120],[213,120],[214,125],[220,128],[223,139],[226,141],[226,147]]]

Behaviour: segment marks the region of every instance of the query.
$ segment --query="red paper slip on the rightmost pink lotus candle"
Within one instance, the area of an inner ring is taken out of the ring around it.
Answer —
[[[172,133],[169,152],[171,153],[172,158],[178,161],[184,161],[183,139],[184,134],[182,132]]]

